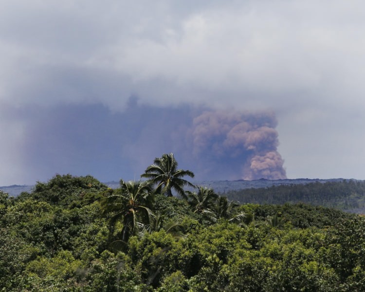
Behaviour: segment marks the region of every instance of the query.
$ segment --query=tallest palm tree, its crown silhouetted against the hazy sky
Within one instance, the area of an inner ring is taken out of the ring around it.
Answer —
[[[171,189],[174,189],[179,195],[186,198],[183,187],[186,185],[194,187],[194,185],[184,180],[183,177],[194,178],[194,173],[177,167],[178,162],[174,158],[174,154],[163,154],[162,157],[155,158],[153,164],[146,168],[141,177],[147,178],[153,186],[157,185],[156,193],[172,197]]]

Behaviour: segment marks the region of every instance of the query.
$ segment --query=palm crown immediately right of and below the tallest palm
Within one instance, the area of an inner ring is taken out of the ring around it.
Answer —
[[[198,187],[198,192],[186,191],[189,204],[194,213],[205,214],[208,217],[214,216],[214,205],[218,195],[212,188],[205,186]]]

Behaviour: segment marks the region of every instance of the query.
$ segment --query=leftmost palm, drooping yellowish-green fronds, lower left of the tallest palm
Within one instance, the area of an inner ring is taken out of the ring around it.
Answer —
[[[120,188],[112,191],[102,203],[104,213],[110,213],[111,223],[123,221],[122,241],[127,242],[137,222],[149,223],[153,216],[150,207],[153,197],[147,182],[125,182],[120,180]]]

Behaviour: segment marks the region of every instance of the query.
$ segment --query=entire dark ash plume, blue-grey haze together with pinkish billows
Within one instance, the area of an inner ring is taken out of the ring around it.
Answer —
[[[18,153],[27,183],[55,173],[138,179],[168,152],[197,179],[285,177],[272,113],[146,106],[133,97],[120,112],[100,104],[9,110],[23,121]]]

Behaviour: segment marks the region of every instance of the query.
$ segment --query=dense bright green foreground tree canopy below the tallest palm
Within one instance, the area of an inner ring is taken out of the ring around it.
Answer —
[[[0,291],[365,291],[365,218],[326,207],[56,175],[0,223]]]

